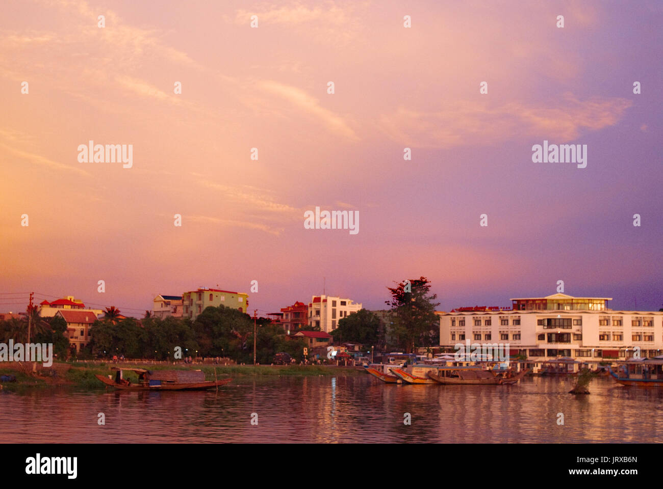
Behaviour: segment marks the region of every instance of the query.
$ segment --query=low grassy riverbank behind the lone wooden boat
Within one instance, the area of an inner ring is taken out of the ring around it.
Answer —
[[[126,368],[145,368],[147,370],[202,370],[206,380],[225,377],[237,378],[255,376],[357,376],[363,374],[363,367],[343,367],[334,365],[200,365],[176,364],[162,362],[131,363],[82,363],[54,362],[50,368],[32,371],[32,363],[3,362],[0,363],[0,375],[16,376],[15,382],[0,384],[3,389],[19,390],[22,388],[40,387],[74,387],[82,389],[103,389],[95,375],[111,375],[111,366]],[[138,376],[133,372],[125,372],[125,378],[137,382]]]

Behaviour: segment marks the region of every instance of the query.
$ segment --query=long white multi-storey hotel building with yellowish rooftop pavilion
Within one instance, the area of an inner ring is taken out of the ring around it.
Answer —
[[[663,312],[613,311],[612,298],[554,294],[511,299],[512,308],[460,307],[440,315],[440,345],[509,343],[530,361],[570,356],[581,362],[663,353]]]

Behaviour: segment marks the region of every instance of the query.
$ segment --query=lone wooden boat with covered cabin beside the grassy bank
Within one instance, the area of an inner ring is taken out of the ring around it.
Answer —
[[[206,390],[224,386],[231,378],[222,380],[205,380],[201,370],[145,370],[145,368],[111,367],[115,370],[112,376],[95,375],[107,386],[119,390]],[[122,372],[135,372],[139,381],[135,384],[122,378]]]

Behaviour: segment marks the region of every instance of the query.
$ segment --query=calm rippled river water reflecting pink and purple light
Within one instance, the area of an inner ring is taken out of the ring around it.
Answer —
[[[4,390],[0,442],[641,443],[663,434],[663,392],[609,378],[593,380],[589,396],[572,396],[571,388],[556,378],[397,386],[362,375],[236,378],[218,393]]]

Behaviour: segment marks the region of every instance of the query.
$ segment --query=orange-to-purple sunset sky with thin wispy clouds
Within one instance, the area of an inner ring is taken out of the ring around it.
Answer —
[[[383,309],[420,276],[439,310],[558,280],[658,310],[662,25],[660,1],[5,1],[0,311],[252,280],[259,314]],[[90,140],[131,168],[80,162]],[[533,162],[544,140],[586,168]],[[305,229],[316,206],[359,233]]]

